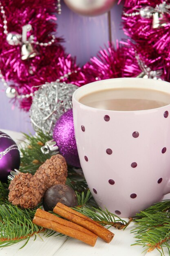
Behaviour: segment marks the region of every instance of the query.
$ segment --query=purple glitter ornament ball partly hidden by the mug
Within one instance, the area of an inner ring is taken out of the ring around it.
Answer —
[[[75,132],[73,124],[73,110],[65,112],[56,122],[53,129],[53,139],[59,147],[60,154],[64,156],[67,164],[80,168]]]

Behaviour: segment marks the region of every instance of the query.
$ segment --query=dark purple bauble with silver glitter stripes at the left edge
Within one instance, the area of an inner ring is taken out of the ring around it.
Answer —
[[[20,152],[16,143],[0,131],[0,181],[6,182],[10,171],[19,169]]]

